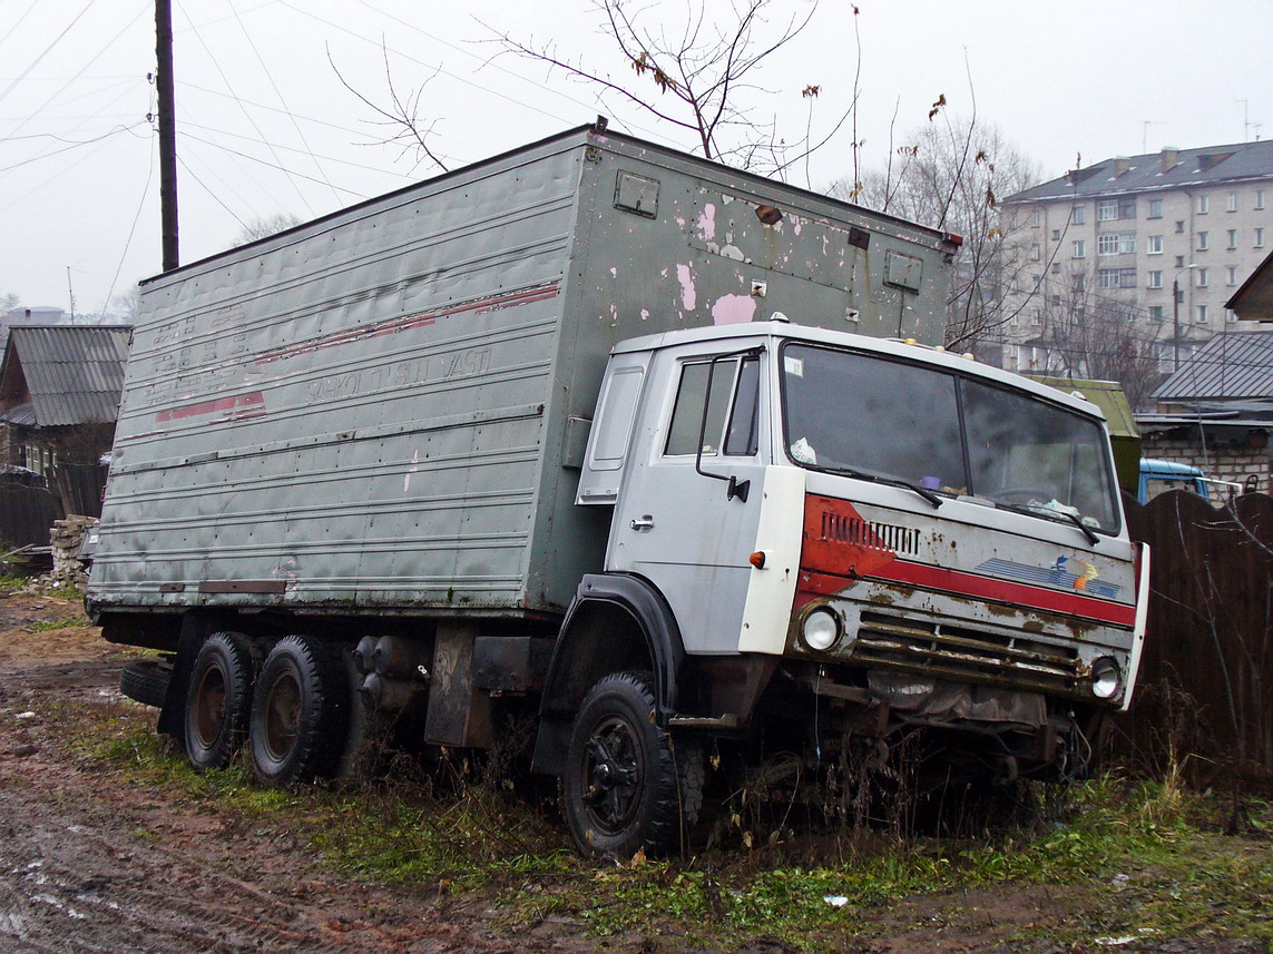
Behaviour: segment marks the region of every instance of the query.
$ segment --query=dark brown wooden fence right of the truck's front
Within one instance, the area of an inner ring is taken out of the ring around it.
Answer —
[[[1115,754],[1152,772],[1184,763],[1202,784],[1273,786],[1273,497],[1124,502],[1152,569],[1141,678],[1114,721]]]

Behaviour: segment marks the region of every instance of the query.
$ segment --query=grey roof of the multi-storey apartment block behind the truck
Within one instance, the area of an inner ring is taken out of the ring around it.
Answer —
[[[1176,151],[1179,162],[1166,172],[1162,170],[1162,153],[1110,158],[1017,192],[1003,201],[1011,204],[1118,196],[1207,186],[1235,179],[1273,178],[1273,140]],[[1120,167],[1125,167],[1125,172],[1118,174]]]

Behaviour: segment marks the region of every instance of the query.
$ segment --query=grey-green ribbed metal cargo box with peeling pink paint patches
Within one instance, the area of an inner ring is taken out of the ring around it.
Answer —
[[[153,279],[89,605],[560,613],[602,567],[574,467],[616,341],[937,342],[953,249],[580,128]]]

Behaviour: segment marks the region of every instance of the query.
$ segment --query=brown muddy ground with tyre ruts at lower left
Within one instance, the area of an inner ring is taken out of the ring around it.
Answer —
[[[53,598],[0,599],[0,951],[700,950],[672,934],[594,939],[569,918],[510,929],[490,898],[354,881],[325,869],[283,827],[227,819],[94,768],[51,730],[62,703],[116,707],[151,724],[154,710],[120,696],[118,647],[93,627],[56,625],[78,611]],[[1072,901],[1039,887],[917,897],[886,915],[883,931],[869,940],[845,937],[841,949],[1059,954],[1074,948],[1007,939],[1030,923],[1063,918]],[[1158,949],[1262,946],[1170,941]],[[794,948],[764,937],[731,950]]]

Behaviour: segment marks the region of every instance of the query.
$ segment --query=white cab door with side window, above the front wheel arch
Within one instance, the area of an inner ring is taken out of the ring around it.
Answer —
[[[766,355],[656,356],[607,569],[653,583],[686,650],[738,649],[764,492]]]

